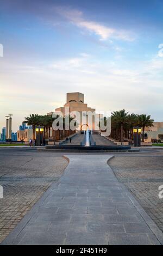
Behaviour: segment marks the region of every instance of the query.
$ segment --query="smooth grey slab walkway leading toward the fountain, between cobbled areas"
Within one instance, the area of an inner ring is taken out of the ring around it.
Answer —
[[[67,155],[53,183],[3,244],[159,245],[161,231],[121,184],[109,155]]]

